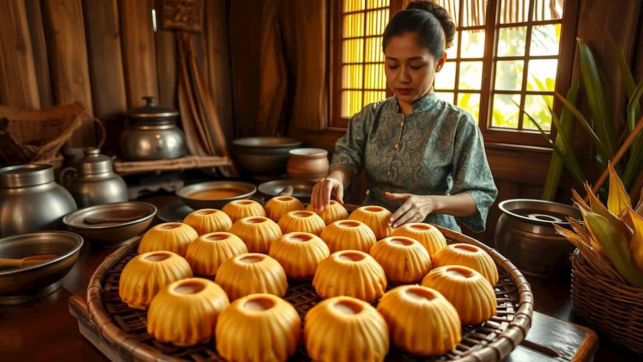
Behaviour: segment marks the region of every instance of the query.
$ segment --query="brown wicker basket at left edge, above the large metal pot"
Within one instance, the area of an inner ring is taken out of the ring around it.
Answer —
[[[9,164],[57,163],[84,113],[80,102],[44,110],[0,106],[0,157]]]

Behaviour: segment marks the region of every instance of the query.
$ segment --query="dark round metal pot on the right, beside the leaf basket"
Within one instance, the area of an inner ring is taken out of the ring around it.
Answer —
[[[545,200],[511,199],[498,204],[496,249],[527,276],[568,278],[576,247],[556,233],[571,228],[566,217],[583,220],[576,207]]]

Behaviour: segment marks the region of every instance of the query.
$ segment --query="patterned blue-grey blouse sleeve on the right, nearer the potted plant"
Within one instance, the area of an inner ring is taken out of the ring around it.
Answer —
[[[471,115],[460,118],[453,149],[453,187],[451,195],[466,192],[476,202],[478,213],[457,218],[475,233],[485,230],[489,208],[498,196],[485,153],[480,128]]]

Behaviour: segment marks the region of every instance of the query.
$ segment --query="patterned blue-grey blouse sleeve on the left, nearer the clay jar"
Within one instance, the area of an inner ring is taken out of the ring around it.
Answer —
[[[373,114],[372,105],[363,108],[350,119],[346,133],[335,143],[329,170],[332,171],[338,166],[346,167],[351,174],[351,185],[355,184],[355,180],[364,169],[368,129]],[[350,193],[350,189],[352,187],[349,187],[345,192]]]

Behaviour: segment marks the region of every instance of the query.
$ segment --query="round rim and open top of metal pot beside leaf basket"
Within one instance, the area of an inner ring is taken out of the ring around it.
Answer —
[[[503,213],[532,224],[567,225],[567,217],[583,220],[581,211],[572,205],[547,200],[514,198],[498,204]]]

